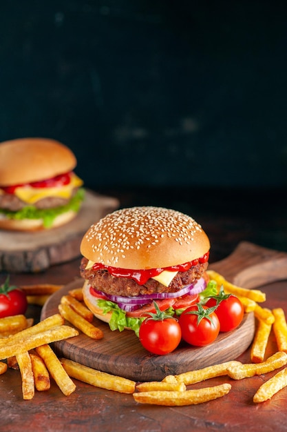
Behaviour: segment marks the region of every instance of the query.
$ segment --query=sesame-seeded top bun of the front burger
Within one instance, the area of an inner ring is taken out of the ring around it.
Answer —
[[[209,248],[209,238],[192,217],[152,206],[110,213],[92,225],[81,242],[87,259],[135,270],[184,264]]]

